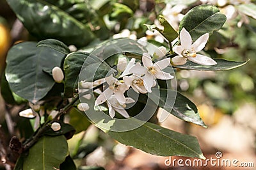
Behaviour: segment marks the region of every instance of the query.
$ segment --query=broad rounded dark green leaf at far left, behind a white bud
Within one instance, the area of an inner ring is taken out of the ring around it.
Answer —
[[[36,47],[36,42],[19,43],[9,50],[6,59],[6,79],[14,93],[36,103],[47,95],[54,80],[45,68],[60,66],[64,54],[49,47]]]

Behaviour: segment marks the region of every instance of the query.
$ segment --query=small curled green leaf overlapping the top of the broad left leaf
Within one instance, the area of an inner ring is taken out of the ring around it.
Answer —
[[[54,40],[54,39],[42,40],[37,43],[36,47],[50,47],[51,49],[54,49],[63,54],[68,54],[70,52],[70,50],[68,49],[67,45],[65,45],[65,43],[60,42],[59,40]]]

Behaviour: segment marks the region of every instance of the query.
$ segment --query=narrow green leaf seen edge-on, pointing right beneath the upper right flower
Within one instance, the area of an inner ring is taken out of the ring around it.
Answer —
[[[174,68],[186,69],[186,70],[200,70],[200,71],[221,71],[221,70],[232,70],[239,66],[245,65],[247,61],[227,61],[225,59],[214,59],[217,62],[217,65],[204,66],[198,65],[191,61],[187,61],[185,65],[173,66]]]

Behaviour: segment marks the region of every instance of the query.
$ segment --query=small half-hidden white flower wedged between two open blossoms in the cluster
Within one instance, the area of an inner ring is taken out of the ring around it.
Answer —
[[[125,76],[124,78],[125,84],[129,85],[136,91],[136,93],[147,93],[147,89],[144,86],[143,79],[138,77],[137,75]]]

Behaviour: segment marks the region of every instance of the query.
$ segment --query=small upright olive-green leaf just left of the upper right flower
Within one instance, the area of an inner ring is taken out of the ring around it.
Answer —
[[[159,28],[155,28],[157,31],[159,31],[159,33],[161,33],[161,35],[163,35],[168,42],[172,42],[173,40],[175,40],[175,38],[177,38],[178,33],[175,31],[175,29],[173,29],[173,27],[169,24],[169,22],[164,19],[163,16],[159,16],[159,22],[160,24],[164,27],[164,29],[159,29]]]

